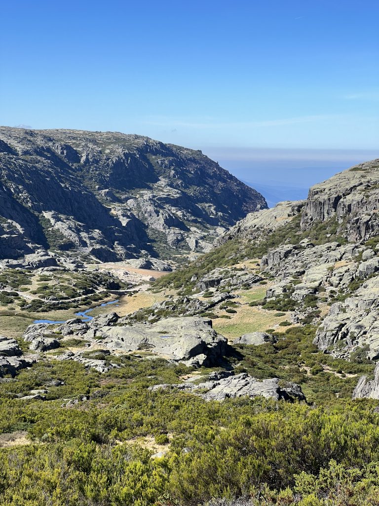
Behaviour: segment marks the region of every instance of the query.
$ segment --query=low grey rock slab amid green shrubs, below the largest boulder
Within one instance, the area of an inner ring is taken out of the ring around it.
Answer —
[[[293,401],[305,400],[305,396],[299,385],[294,383],[286,387],[279,386],[279,379],[263,379],[259,381],[243,372],[234,375],[233,372],[216,374],[208,377],[208,381],[195,385],[193,383],[181,383],[179,385],[155,385],[150,387],[156,391],[160,389],[178,389],[199,395],[206,401],[223,401],[236,397],[266,397],[267,399]],[[200,392],[199,392],[200,391]]]

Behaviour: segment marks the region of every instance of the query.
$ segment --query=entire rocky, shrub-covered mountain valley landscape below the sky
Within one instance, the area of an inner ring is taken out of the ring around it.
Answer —
[[[0,128],[0,504],[379,504],[379,159]]]

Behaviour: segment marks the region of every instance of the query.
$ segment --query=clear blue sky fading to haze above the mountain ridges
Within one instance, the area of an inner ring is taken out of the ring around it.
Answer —
[[[377,152],[378,18],[376,0],[4,0],[0,123],[148,135],[308,186]]]

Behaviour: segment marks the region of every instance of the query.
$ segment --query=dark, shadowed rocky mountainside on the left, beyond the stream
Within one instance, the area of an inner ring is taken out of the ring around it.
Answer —
[[[201,151],[111,132],[1,127],[0,178],[0,258],[171,258],[267,207]]]

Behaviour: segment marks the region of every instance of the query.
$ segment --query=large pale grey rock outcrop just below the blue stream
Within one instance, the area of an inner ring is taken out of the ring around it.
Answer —
[[[110,313],[93,318],[90,322],[83,322],[79,318],[68,320],[57,331],[63,338],[82,338],[91,343],[90,347],[101,346],[108,353],[117,355],[143,351],[148,355],[183,362],[189,366],[218,363],[227,350],[226,339],[213,330],[212,321],[207,318],[165,318],[156,323],[132,325],[127,325],[126,322],[126,318]],[[24,339],[31,342],[31,349],[45,351],[60,345],[50,332],[51,326],[48,324],[30,325],[25,331]],[[68,352],[58,359],[76,360],[98,370],[108,367],[108,362],[89,361],[80,352]]]

